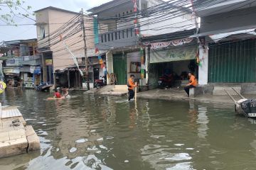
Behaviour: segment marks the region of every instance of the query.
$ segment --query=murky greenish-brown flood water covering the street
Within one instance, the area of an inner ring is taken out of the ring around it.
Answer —
[[[255,169],[256,124],[233,106],[70,94],[0,95],[41,141],[41,151],[0,159],[0,169]]]

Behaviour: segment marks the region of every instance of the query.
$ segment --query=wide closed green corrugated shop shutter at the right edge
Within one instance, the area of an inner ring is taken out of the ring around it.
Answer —
[[[256,82],[256,41],[243,40],[209,45],[208,82]]]

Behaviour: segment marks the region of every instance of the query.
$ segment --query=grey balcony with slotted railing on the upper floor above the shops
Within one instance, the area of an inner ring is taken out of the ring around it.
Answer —
[[[137,44],[137,35],[134,27],[122,30],[114,30],[99,35],[99,42],[95,46],[99,50],[117,49],[119,47],[129,47]]]

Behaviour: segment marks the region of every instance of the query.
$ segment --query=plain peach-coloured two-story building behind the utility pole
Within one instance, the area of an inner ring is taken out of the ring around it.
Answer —
[[[85,79],[78,72],[70,52],[75,55],[80,69],[85,72],[85,57],[95,51],[92,18],[83,15],[85,41],[82,32],[82,14],[49,6],[36,13],[38,52],[43,61],[43,81],[55,86],[79,88]],[[70,50],[70,52],[68,52]]]

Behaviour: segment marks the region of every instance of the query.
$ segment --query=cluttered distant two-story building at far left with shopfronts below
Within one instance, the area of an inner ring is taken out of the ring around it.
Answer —
[[[3,72],[10,86],[21,82],[26,88],[34,88],[41,82],[41,57],[37,52],[37,39],[5,42],[9,51],[5,53]]]

